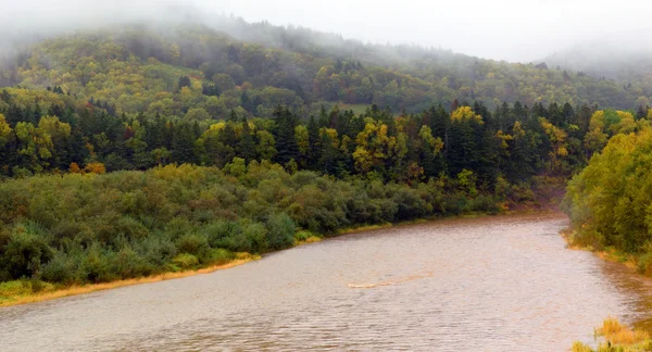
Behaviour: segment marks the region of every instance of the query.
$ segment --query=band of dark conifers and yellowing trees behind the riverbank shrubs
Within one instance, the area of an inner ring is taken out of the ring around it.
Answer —
[[[272,161],[289,171],[339,178],[363,176],[419,183],[466,171],[478,186],[499,178],[526,180],[547,172],[567,175],[602,149],[612,135],[634,131],[649,114],[602,111],[565,103],[532,108],[454,102],[396,116],[322,108],[300,116],[277,106],[272,118],[231,111],[223,120],[120,114],[99,101],[79,103],[52,91],[0,93],[0,174],[148,169],[191,163],[224,167],[234,158]],[[101,166],[100,166],[101,165]]]

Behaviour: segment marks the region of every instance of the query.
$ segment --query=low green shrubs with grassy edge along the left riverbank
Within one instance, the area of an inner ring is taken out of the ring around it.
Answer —
[[[342,228],[499,211],[460,180],[414,186],[234,160],[0,183],[0,296],[222,265]],[[18,280],[18,281],[16,281]]]

